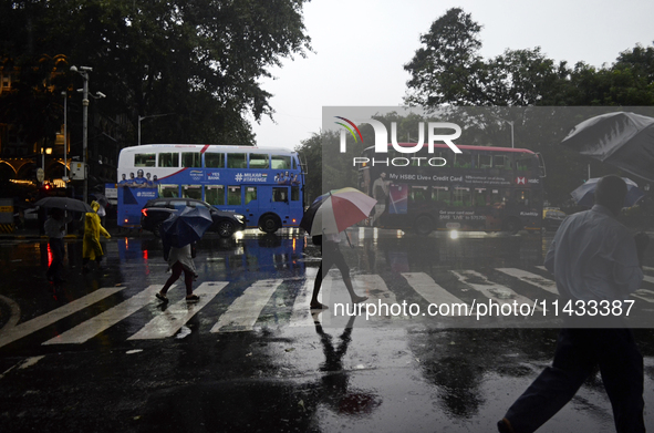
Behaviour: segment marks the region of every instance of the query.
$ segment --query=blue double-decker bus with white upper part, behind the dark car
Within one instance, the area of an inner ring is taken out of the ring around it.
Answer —
[[[295,152],[200,144],[125,147],[118,157],[118,226],[138,228],[157,197],[205,200],[246,216],[248,227],[276,233],[302,219],[304,173]]]

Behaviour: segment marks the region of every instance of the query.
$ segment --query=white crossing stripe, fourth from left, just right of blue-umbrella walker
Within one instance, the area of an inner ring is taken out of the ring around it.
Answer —
[[[251,331],[263,307],[282,282],[282,279],[260,280],[248,287],[220,316],[211,332]]]

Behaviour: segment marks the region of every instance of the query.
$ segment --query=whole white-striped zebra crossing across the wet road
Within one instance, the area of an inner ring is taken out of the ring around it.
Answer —
[[[654,272],[654,268],[645,268],[646,272]],[[313,326],[314,318],[309,309],[311,292],[313,289],[313,280],[316,269],[307,269],[305,278],[301,282],[301,287],[297,290],[294,301],[290,311],[288,320],[289,328],[299,328]],[[443,278],[447,283],[438,283],[434,276],[425,272],[402,272],[399,276],[406,281],[406,286],[415,292],[415,296],[429,305],[467,305],[474,307],[475,298],[482,298],[492,300],[499,305],[512,303],[515,301],[520,303],[533,305],[537,311],[540,307],[536,303],[539,298],[531,299],[520,293],[519,287],[525,285],[531,288],[531,293],[541,293],[540,299],[544,297],[553,298],[557,296],[556,282],[543,277],[548,275],[542,267],[533,267],[531,270],[519,268],[495,268],[488,275],[475,269],[464,270],[440,270],[438,277]],[[501,276],[502,278],[498,278]],[[353,276],[353,283],[355,291],[360,295],[368,297],[367,302],[374,305],[397,305],[402,303],[397,295],[397,290],[388,287],[386,280],[380,275],[356,275]],[[438,278],[440,279],[440,278]],[[496,281],[496,279],[501,281]],[[519,282],[519,283],[518,283]],[[180,329],[196,315],[201,313],[203,309],[210,305],[211,301],[227,287],[229,281],[206,281],[195,289],[195,293],[199,295],[200,301],[198,303],[187,303],[185,299],[173,302],[160,311],[155,311],[152,320],[147,321],[135,333],[128,336],[126,339],[131,341],[138,340],[157,340],[172,338],[177,334]],[[269,305],[273,295],[279,290],[287,290],[292,285],[284,285],[284,279],[263,279],[258,280],[246,287],[246,289],[230,300],[227,309],[217,318],[204,318],[205,321],[214,320],[209,329],[209,333],[232,333],[247,332],[258,329],[257,321]],[[294,287],[297,288],[297,283]],[[155,293],[159,290],[159,285],[148,286],[135,295],[124,299],[122,302],[111,307],[96,316],[82,321],[81,323],[61,332],[56,337],[40,342],[42,346],[56,344],[82,344],[101,333],[107,331],[110,328],[120,323],[121,321],[135,315],[137,311],[146,308],[155,300]],[[40,331],[50,326],[56,324],[62,319],[80,312],[91,306],[105,300],[106,298],[116,295],[126,287],[111,287],[97,289],[80,299],[71,301],[58,309],[48,313],[39,316],[25,322],[9,322],[4,328],[0,329],[0,348],[8,346],[17,340],[28,337],[37,331]],[[321,295],[331,292],[345,292],[344,285],[340,276],[334,271],[330,271],[323,279]],[[461,293],[468,293],[461,296]],[[633,298],[640,303],[640,308],[653,308],[654,303],[654,277],[647,275],[641,289],[633,293]],[[413,298],[415,299],[415,297]],[[322,301],[322,299],[320,299]],[[329,313],[329,312],[328,312]],[[453,310],[448,315],[455,316],[457,312]],[[460,311],[459,311],[460,313]],[[406,319],[405,316],[397,315],[376,315],[372,320],[397,320]],[[198,332],[207,332],[200,330]]]

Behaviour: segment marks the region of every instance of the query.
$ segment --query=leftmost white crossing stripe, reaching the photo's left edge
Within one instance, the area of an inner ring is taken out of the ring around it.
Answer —
[[[92,291],[91,293],[80,299],[75,299],[74,301],[69,302],[65,306],[62,306],[45,315],[39,316],[27,322],[17,324],[13,328],[8,329],[7,327],[4,327],[0,330],[0,348],[18,339],[21,339],[32,332],[43,329],[65,318],[66,316],[83,310],[84,308],[124,289],[125,287],[104,287],[95,291]]]

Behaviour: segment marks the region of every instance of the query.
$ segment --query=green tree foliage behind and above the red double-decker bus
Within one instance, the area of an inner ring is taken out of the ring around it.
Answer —
[[[542,153],[549,168],[546,193],[554,204],[569,199],[569,193],[588,177],[589,165],[593,177],[615,173],[614,167],[559,145],[573,125],[588,118],[579,111],[570,117],[571,112],[561,107],[654,105],[654,48],[636,45],[620,53],[612,65],[599,69],[584,62],[572,68],[565,62],[557,63],[538,47],[508,49],[486,60],[479,55],[480,29],[470,14],[458,8],[434,21],[421,37],[422,47],[404,65],[411,73],[404,102],[438,113],[460,105],[492,110],[551,107],[550,116],[539,112],[538,118],[530,117],[528,112],[498,112],[489,116],[488,111],[453,118],[466,125],[461,143],[465,140],[465,144],[478,145],[506,146],[501,130],[508,130],[507,123],[513,122],[516,147]],[[494,130],[499,130],[495,136]]]

